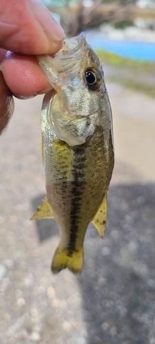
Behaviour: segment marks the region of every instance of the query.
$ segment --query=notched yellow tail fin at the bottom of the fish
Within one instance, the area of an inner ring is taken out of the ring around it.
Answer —
[[[79,275],[83,268],[83,247],[78,252],[69,254],[67,250],[63,250],[58,246],[52,260],[52,272],[57,274],[61,270],[68,268],[74,275]]]

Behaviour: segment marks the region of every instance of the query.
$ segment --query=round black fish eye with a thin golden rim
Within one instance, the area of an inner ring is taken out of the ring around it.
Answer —
[[[85,83],[89,89],[96,91],[101,85],[101,76],[96,69],[87,69],[85,71]]]

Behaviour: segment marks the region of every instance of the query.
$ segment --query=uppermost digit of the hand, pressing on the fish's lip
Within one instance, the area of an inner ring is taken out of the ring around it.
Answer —
[[[20,54],[54,54],[63,29],[38,0],[0,1],[0,47]]]

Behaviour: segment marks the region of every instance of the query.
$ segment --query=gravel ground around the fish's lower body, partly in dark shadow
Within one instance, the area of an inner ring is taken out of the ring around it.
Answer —
[[[104,239],[90,224],[81,275],[52,275],[58,226],[29,220],[45,195],[40,109],[17,100],[1,137],[1,343],[154,344],[155,184],[116,159]]]

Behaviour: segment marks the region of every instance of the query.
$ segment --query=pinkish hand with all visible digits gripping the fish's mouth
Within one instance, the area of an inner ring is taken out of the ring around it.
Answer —
[[[0,133],[12,116],[12,94],[26,99],[50,87],[36,55],[55,54],[64,38],[38,0],[0,0]]]

